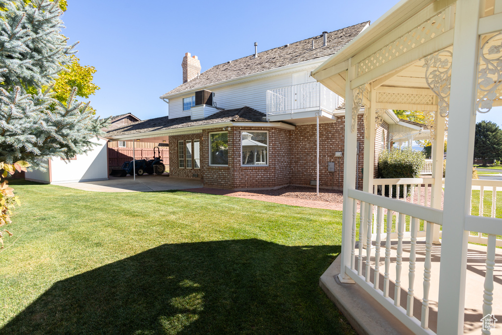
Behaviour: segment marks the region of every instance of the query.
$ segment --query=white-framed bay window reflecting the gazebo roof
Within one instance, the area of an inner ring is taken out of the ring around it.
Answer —
[[[242,166],[269,165],[269,132],[243,131],[240,145]]]

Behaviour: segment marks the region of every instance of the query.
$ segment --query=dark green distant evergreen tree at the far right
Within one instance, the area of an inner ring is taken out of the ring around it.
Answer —
[[[474,158],[484,161],[502,157],[502,130],[491,121],[481,121],[476,124],[474,137]]]

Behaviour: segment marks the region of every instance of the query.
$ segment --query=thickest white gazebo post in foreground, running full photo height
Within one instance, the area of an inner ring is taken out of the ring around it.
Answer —
[[[464,327],[467,238],[478,63],[480,0],[456,2],[449,105],[448,157],[439,281],[438,334]]]

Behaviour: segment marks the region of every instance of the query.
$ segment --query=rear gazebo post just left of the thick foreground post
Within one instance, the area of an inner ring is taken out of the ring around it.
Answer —
[[[443,159],[444,159],[444,138],[445,119],[436,111],[434,117],[434,140],[432,141],[432,178],[434,184],[431,190],[431,207],[441,209],[441,194],[443,191]],[[432,243],[440,244],[439,225],[433,225]]]

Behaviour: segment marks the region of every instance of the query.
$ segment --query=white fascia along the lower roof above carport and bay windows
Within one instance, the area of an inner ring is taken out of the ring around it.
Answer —
[[[220,122],[209,125],[201,125],[201,126],[193,126],[186,128],[175,128],[168,130],[158,130],[154,132],[145,132],[145,133],[135,133],[135,134],[127,134],[127,135],[116,135],[110,136],[107,139],[113,141],[128,141],[128,140],[139,140],[139,139],[148,139],[152,137],[160,137],[160,136],[175,136],[175,135],[186,135],[186,134],[197,134],[201,133],[205,129],[213,129],[213,128],[223,128],[223,127],[268,127],[268,128],[281,128],[286,130],[294,130],[295,126],[289,125],[283,122]]]

